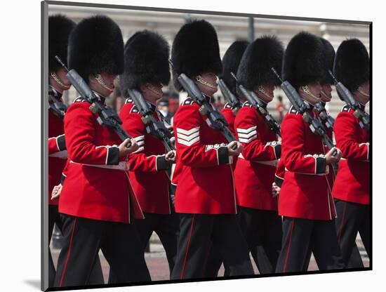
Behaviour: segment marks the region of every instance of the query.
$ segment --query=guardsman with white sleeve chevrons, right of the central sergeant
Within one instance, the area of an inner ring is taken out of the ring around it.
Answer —
[[[267,106],[279,85],[271,68],[281,69],[284,48],[275,36],[262,36],[251,43],[241,59],[237,79],[254,91]],[[281,143],[264,117],[244,102],[234,121],[244,147],[234,171],[239,222],[260,274],[274,273],[281,249],[281,217],[272,183]]]

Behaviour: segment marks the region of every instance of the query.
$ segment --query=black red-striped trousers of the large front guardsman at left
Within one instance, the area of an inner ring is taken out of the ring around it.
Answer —
[[[61,215],[63,247],[55,286],[86,285],[99,249],[117,282],[150,281],[140,239],[132,224]]]

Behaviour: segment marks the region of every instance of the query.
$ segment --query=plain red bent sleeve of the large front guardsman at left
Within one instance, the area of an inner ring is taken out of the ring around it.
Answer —
[[[98,123],[88,102],[74,102],[65,115],[68,157],[79,164],[119,164],[117,145],[95,145]]]

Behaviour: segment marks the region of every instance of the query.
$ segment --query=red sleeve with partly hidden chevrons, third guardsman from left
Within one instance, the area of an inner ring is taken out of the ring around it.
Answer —
[[[128,165],[130,171],[164,171],[170,167],[165,160],[165,155],[145,154],[146,147],[146,128],[142,123],[141,115],[131,112],[133,104],[125,104],[119,112],[119,117],[123,121],[122,126],[135,141],[137,141],[139,149],[128,155]]]

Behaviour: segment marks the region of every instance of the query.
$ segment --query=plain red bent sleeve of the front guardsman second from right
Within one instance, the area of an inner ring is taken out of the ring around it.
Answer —
[[[301,114],[287,114],[281,124],[281,159],[288,171],[305,174],[325,174],[324,154],[305,152],[305,124]]]

